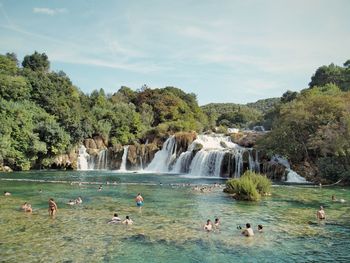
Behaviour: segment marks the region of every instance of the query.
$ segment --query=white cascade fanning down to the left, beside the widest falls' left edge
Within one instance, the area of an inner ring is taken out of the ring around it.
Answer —
[[[163,144],[163,148],[156,153],[146,171],[167,173],[171,163],[176,158],[176,140],[174,136],[169,137]]]

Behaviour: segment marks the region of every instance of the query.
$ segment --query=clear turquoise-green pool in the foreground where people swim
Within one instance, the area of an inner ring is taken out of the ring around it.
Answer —
[[[259,203],[235,201],[222,187],[193,189],[214,183],[224,181],[110,171],[0,174],[1,193],[12,193],[0,196],[0,261],[350,262],[349,188],[274,186]],[[347,202],[332,202],[332,194]],[[81,205],[66,205],[78,196]],[[54,218],[50,197],[59,208]],[[20,210],[25,201],[32,214]],[[320,205],[326,224],[315,220]],[[134,224],[107,224],[114,212]],[[220,229],[206,233],[205,221],[215,217]],[[264,225],[264,233],[241,236],[237,225],[247,222],[254,230]]]

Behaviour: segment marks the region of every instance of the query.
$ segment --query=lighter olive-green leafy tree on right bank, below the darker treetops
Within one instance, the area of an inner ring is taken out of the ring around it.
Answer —
[[[348,160],[349,116],[350,92],[334,84],[304,90],[279,108],[272,131],[258,142],[258,148],[271,156],[283,155],[292,163],[316,163],[320,176],[335,181],[340,174],[329,172],[333,168],[327,160]]]

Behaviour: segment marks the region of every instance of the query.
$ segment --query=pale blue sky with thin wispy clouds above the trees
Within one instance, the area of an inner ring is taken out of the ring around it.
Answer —
[[[45,52],[86,93],[175,86],[247,103],[350,59],[348,0],[0,0],[0,53]]]

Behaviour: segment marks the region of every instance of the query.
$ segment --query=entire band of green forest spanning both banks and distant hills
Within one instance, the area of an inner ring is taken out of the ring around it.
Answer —
[[[7,53],[0,55],[0,166],[50,167],[55,156],[93,136],[113,146],[179,131],[263,125],[271,131],[257,147],[267,155],[288,158],[302,173],[349,178],[349,90],[348,60],[344,66],[318,68],[301,92],[246,105],[200,107],[195,94],[176,87],[85,94],[63,71],[50,70],[45,53],[27,55],[22,63]]]

